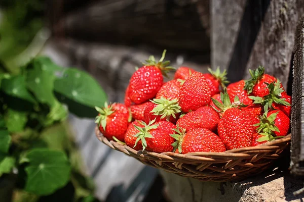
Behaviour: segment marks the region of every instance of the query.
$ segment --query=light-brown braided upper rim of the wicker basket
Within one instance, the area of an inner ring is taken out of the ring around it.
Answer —
[[[102,135],[102,133],[99,131],[99,128],[97,126],[95,127],[95,134],[96,134],[96,137],[99,139],[99,141],[104,142],[104,143],[107,143],[107,142],[110,143],[112,145],[111,147],[113,149],[114,149],[114,147],[117,147],[120,149],[126,149],[129,152],[131,152],[133,154],[137,154],[142,157],[144,157],[143,155],[154,156],[154,157],[161,158],[161,159],[164,159],[164,158],[166,159],[168,157],[177,157],[177,158],[180,157],[180,158],[189,158],[189,160],[193,159],[194,157],[202,157],[202,156],[211,157],[211,158],[238,158],[238,157],[246,158],[246,157],[250,157],[250,153],[253,151],[256,153],[256,152],[274,150],[276,148],[279,148],[278,145],[285,144],[286,142],[290,141],[290,139],[291,139],[291,133],[289,133],[288,135],[286,135],[283,138],[265,142],[265,143],[257,145],[257,146],[230,149],[230,150],[226,150],[223,152],[199,151],[199,152],[194,152],[194,153],[178,154],[178,153],[173,153],[170,151],[165,152],[165,153],[155,153],[153,151],[147,151],[147,150],[144,150],[144,151],[135,150],[126,144],[121,144],[121,143],[113,141],[113,140],[108,140],[107,138],[105,138]],[[171,158],[169,158],[169,159],[172,160]],[[198,160],[198,159],[194,158],[193,160]]]

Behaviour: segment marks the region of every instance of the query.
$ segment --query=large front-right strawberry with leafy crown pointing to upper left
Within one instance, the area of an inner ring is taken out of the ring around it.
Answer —
[[[237,96],[233,104],[231,104],[226,90],[224,94],[221,94],[221,98],[223,104],[212,99],[216,107],[221,110],[221,118],[217,126],[218,136],[226,149],[250,146],[252,135],[255,133],[252,116],[239,109],[243,105],[240,104]]]

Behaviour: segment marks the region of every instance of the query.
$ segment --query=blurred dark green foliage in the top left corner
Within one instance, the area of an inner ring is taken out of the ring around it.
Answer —
[[[8,61],[22,53],[43,27],[43,0],[2,0],[0,59]]]

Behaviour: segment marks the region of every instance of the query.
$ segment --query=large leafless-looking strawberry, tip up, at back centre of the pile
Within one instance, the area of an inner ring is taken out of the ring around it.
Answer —
[[[204,75],[194,72],[180,87],[178,104],[187,113],[208,105],[210,97],[210,88]]]

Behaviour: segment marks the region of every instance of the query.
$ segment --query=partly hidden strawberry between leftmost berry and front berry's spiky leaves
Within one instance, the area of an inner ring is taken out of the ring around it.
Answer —
[[[134,127],[134,125],[138,127],[144,127],[144,125],[141,124],[139,121],[133,121],[129,126],[125,134],[125,143],[130,146],[131,148],[134,148],[135,150],[141,150],[142,144],[141,140],[138,141],[137,145],[134,147],[137,137],[136,135],[138,133],[138,130]]]

